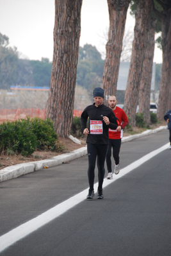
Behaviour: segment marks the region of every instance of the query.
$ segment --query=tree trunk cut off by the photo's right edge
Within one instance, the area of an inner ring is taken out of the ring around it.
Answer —
[[[159,120],[162,120],[165,112],[171,109],[171,8],[166,7],[163,14],[161,30],[163,64],[161,69],[159,105],[157,113]]]

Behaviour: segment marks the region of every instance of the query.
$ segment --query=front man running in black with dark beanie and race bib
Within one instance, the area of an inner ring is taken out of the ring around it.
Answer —
[[[86,198],[94,198],[94,170],[97,158],[99,178],[97,198],[102,199],[104,198],[102,194],[102,183],[105,173],[104,162],[109,143],[108,129],[117,128],[117,119],[111,108],[103,105],[104,90],[101,87],[97,87],[94,89],[93,95],[95,103],[86,107],[81,114],[81,128],[83,133],[87,135],[88,182],[90,189]],[[89,124],[88,128],[86,128],[88,117]]]

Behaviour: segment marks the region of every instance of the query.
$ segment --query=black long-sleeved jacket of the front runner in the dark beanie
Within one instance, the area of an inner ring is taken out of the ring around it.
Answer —
[[[102,121],[102,117],[107,116],[110,119],[110,124],[106,125],[104,121]],[[95,103],[93,105],[90,105],[83,110],[83,113],[81,114],[81,128],[82,131],[86,128],[87,119],[89,117],[88,121],[88,130],[90,132],[90,120],[100,120],[102,121],[102,134],[88,134],[86,138],[87,143],[92,144],[108,144],[109,143],[109,137],[108,137],[108,129],[111,128],[112,130],[116,130],[117,128],[117,117],[115,117],[115,114],[111,110],[111,108],[106,107],[105,105],[101,105],[99,107],[95,107]]]

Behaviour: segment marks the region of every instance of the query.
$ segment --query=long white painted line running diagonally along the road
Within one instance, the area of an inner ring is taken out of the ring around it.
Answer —
[[[121,178],[122,176],[126,175],[136,167],[142,165],[147,160],[151,159],[155,155],[158,155],[163,150],[167,149],[169,144],[165,144],[163,147],[156,149],[152,151],[151,153],[145,155],[144,157],[140,158],[139,160],[133,162],[133,164],[130,164],[129,166],[125,167],[124,169],[120,170],[120,173],[114,180],[106,180],[104,179],[103,187],[107,187],[110,185],[111,182],[115,182],[118,180],[118,178]],[[97,191],[98,183],[95,183],[95,191]],[[81,201],[84,201],[86,198],[88,189],[85,189],[84,191],[80,192],[79,194],[76,194],[75,196],[72,196],[68,200],[63,201],[59,205],[56,205],[55,207],[47,210],[43,214],[40,214],[34,219],[31,219],[30,221],[18,226],[17,228],[14,228],[10,232],[2,235],[0,237],[0,252],[2,252],[4,249],[8,248],[12,244],[16,243],[20,239],[26,237],[27,235],[31,234],[38,228],[44,226],[45,224],[49,223],[55,218],[58,218],[61,214],[67,212],[67,210],[71,209],[72,207],[76,206],[78,203],[81,203]]]

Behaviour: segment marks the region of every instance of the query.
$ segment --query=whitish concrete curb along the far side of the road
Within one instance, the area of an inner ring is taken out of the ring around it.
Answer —
[[[144,137],[164,129],[167,129],[167,126],[160,126],[159,128],[156,128],[154,130],[146,130],[145,132],[142,132],[140,134],[123,137],[122,143],[132,141],[133,139]],[[43,169],[45,166],[58,166],[59,164],[63,164],[70,160],[83,157],[86,154],[87,149],[86,146],[84,146],[83,148],[79,148],[69,153],[58,155],[57,157],[53,157],[50,159],[45,159],[37,162],[28,162],[24,164],[17,164],[15,166],[9,166],[0,170],[0,182],[4,182],[5,180],[10,180],[12,178],[17,178],[20,175],[26,175],[27,173],[32,173],[33,171]]]

